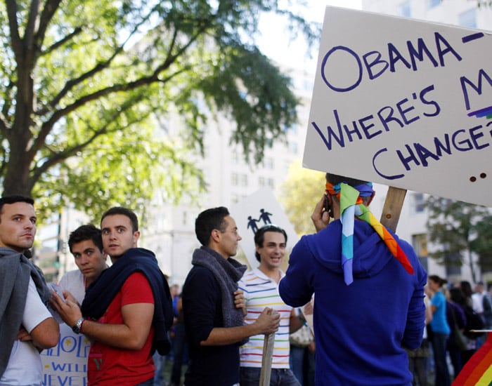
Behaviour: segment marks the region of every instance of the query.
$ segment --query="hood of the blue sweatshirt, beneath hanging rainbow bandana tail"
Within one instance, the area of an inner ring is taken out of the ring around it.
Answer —
[[[400,242],[393,234],[395,240]],[[342,222],[335,220],[328,227],[308,239],[314,258],[324,267],[343,275],[342,269]],[[352,272],[357,278],[373,277],[384,268],[394,256],[384,241],[367,222],[354,222],[354,260]]]

